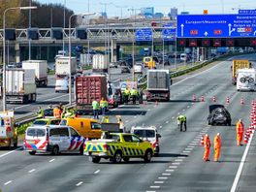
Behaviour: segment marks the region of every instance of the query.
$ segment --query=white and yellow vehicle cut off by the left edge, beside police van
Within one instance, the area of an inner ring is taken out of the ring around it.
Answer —
[[[17,134],[14,126],[14,112],[0,112],[0,147],[17,146]]]

